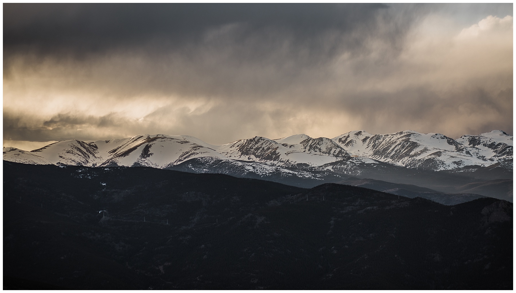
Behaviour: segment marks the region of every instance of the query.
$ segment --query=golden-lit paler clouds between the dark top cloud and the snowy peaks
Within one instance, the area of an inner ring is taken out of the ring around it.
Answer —
[[[358,129],[512,134],[510,15],[459,26],[429,13],[396,43],[370,36],[359,49],[328,30],[317,50],[333,46],[338,54],[317,62],[282,31],[240,36],[246,28],[213,26],[196,46],[157,52],[11,54],[4,61],[4,146],[142,133],[213,144]]]

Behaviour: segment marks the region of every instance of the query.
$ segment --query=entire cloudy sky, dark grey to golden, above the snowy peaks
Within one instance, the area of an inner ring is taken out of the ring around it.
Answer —
[[[512,135],[512,4],[3,4],[4,147]]]

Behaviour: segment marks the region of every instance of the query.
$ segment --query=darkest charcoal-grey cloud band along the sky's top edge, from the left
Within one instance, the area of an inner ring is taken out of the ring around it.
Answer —
[[[155,38],[177,46],[199,41],[203,31],[228,23],[247,29],[281,27],[306,39],[327,29],[374,28],[381,4],[4,4],[4,50],[35,46],[102,51]]]

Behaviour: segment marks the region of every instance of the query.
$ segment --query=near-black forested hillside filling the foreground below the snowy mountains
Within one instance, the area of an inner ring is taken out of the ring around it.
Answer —
[[[4,288],[512,289],[512,203],[4,162]]]

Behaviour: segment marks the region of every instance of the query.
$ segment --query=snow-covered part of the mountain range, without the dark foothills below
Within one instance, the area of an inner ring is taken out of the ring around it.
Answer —
[[[166,169],[197,159],[206,164],[214,161],[236,164],[264,174],[302,173],[303,169],[314,168],[342,171],[346,169],[343,166],[351,168],[380,162],[434,171],[498,163],[512,170],[512,147],[512,136],[497,130],[464,135],[457,140],[442,134],[414,131],[384,135],[352,131],[332,139],[311,138],[305,134],[273,140],[256,136],[222,145],[187,135],[144,134],[99,141],[63,140],[34,151],[4,147],[4,160],[25,164]]]

